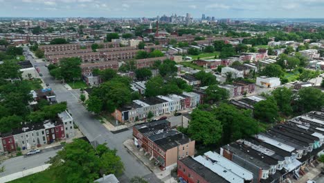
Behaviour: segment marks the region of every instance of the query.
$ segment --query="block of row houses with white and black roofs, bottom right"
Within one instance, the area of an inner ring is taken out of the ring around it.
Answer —
[[[293,182],[318,164],[324,112],[309,112],[203,156],[178,160],[180,181]],[[228,162],[230,161],[230,162]],[[251,177],[253,175],[253,177]]]

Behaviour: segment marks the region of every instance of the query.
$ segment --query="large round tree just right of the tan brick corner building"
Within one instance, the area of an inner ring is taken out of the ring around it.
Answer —
[[[222,138],[222,123],[211,112],[195,109],[191,118],[188,133],[192,139],[205,145],[219,143]]]

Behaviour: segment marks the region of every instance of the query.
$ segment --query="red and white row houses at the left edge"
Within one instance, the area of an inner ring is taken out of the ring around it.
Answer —
[[[65,111],[57,114],[55,121],[25,124],[12,132],[0,134],[0,152],[10,153],[17,148],[29,150],[74,135],[73,118]]]

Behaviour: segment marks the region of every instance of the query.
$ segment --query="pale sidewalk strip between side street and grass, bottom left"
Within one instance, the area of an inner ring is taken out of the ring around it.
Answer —
[[[12,173],[10,175],[6,175],[4,177],[0,177],[0,182],[10,182],[12,180],[17,180],[21,177],[26,177],[28,175],[32,175],[34,173],[39,173],[41,171],[45,171],[51,164],[44,164],[42,166],[37,166],[35,168],[30,168],[26,171],[20,171],[17,173]]]

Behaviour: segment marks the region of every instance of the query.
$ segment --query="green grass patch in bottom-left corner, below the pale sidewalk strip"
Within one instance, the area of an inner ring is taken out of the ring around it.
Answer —
[[[55,175],[54,172],[51,170],[46,170],[46,171],[42,171],[39,173],[35,173],[33,175],[28,175],[26,177],[21,177],[17,180],[12,180],[9,183],[59,183],[56,179],[55,179]]]

